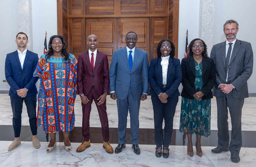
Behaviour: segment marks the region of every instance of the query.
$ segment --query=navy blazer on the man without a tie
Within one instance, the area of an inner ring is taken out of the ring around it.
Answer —
[[[10,85],[10,96],[18,96],[17,90],[27,88],[27,96],[37,94],[35,83],[38,77],[33,77],[33,72],[37,66],[38,55],[27,50],[23,69],[20,65],[17,50],[6,55],[5,78]]]

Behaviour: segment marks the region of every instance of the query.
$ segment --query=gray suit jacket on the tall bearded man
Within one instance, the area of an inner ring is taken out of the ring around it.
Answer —
[[[226,41],[213,46],[211,58],[214,60],[216,69],[216,83],[213,87],[213,95],[222,97],[224,93],[219,84],[226,83]],[[248,95],[247,80],[253,72],[253,50],[250,43],[237,40],[234,44],[229,62],[228,83],[235,89],[230,93],[234,98],[246,98]]]

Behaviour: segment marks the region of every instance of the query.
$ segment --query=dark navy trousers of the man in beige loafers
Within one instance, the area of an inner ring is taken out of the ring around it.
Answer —
[[[15,137],[20,136],[23,101],[27,106],[29,125],[30,125],[32,135],[37,135],[37,113],[35,111],[35,108],[37,106],[37,94],[26,96],[24,98],[19,96],[18,97],[10,96],[10,99],[11,99],[11,106],[12,106],[12,112],[13,112],[12,124],[13,124],[14,136]]]

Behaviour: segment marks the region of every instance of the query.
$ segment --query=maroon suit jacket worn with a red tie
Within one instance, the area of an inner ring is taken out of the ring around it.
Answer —
[[[87,95],[94,82],[98,94],[109,92],[109,62],[106,54],[97,50],[94,70],[91,69],[89,52],[83,52],[77,62],[77,91]]]

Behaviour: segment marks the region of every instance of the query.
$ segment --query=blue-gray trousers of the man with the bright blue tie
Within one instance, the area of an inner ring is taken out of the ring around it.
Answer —
[[[124,145],[126,143],[126,126],[128,109],[130,112],[130,125],[131,125],[131,144],[138,145],[140,139],[139,133],[139,110],[140,100],[134,100],[129,88],[127,97],[122,100],[116,101],[118,111],[118,143]]]

